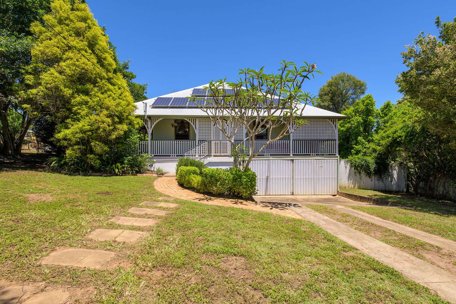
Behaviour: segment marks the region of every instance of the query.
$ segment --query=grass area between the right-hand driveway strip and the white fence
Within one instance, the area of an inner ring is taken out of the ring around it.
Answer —
[[[387,201],[400,203],[411,208],[398,207],[358,207],[353,209],[364,211],[385,220],[397,222],[425,232],[440,235],[456,241],[456,203],[400,192],[380,192],[360,189],[341,189],[343,192],[372,196]]]

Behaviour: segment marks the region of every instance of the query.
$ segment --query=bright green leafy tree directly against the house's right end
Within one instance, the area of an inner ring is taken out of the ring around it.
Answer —
[[[373,140],[374,128],[381,112],[375,107],[372,95],[368,94],[342,114],[349,118],[339,123],[339,155],[341,158],[359,155],[360,150]]]

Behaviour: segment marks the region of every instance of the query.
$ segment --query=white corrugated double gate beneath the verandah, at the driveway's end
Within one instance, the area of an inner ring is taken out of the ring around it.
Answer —
[[[258,195],[336,195],[337,159],[253,160]]]

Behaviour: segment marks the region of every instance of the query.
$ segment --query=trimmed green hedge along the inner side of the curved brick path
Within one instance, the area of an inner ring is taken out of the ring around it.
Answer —
[[[177,171],[177,182],[198,192],[215,195],[231,194],[248,199],[256,193],[255,172],[243,172],[239,168],[204,168],[199,175],[198,168],[181,166]]]

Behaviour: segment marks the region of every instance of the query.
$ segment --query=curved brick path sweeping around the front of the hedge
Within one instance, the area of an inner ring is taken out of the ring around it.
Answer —
[[[256,211],[265,211],[275,213],[281,216],[289,216],[294,218],[301,218],[294,211],[291,211],[288,207],[292,204],[273,204],[273,203],[262,203],[256,201],[245,201],[242,199],[228,199],[208,196],[205,194],[200,194],[193,192],[191,190],[182,188],[177,184],[176,177],[163,176],[159,177],[154,181],[154,187],[157,191],[160,191],[163,194],[180,198],[187,201],[197,201],[199,203],[207,205],[218,205],[226,207],[236,207],[242,209],[256,210]],[[300,206],[297,204],[293,204]]]

